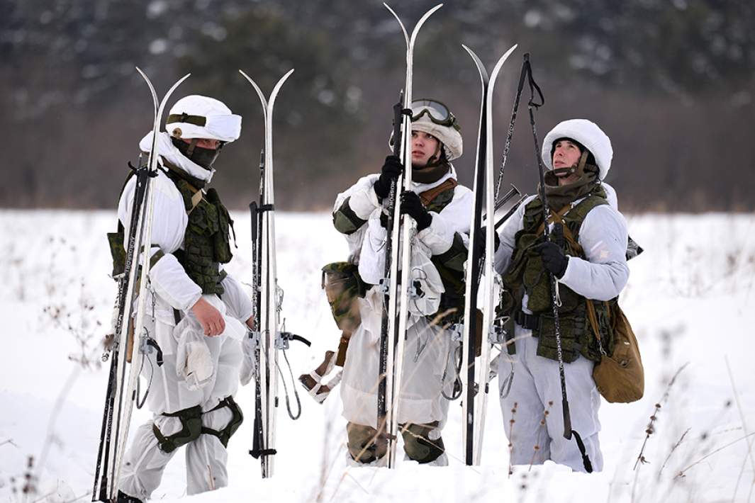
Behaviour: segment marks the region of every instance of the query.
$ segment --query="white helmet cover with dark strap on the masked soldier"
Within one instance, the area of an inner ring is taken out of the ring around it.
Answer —
[[[192,94],[171,107],[165,130],[175,138],[208,138],[233,142],[241,134],[241,115],[219,100]]]

